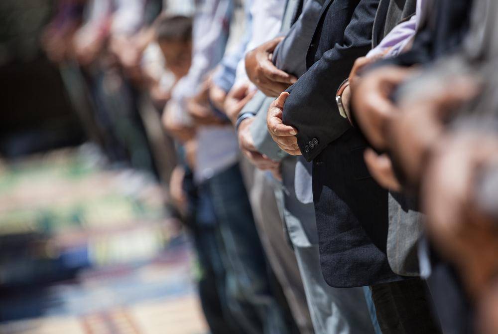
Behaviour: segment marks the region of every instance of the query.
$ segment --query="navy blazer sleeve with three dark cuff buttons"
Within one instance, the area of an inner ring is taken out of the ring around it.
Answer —
[[[336,91],[349,76],[355,60],[364,56],[372,46],[373,19],[379,0],[349,2],[358,4],[346,28],[343,24],[331,24],[330,27],[323,26],[321,31],[324,35],[330,29],[343,29],[342,39],[325,51],[287,90],[290,96],[284,105],[283,122],[298,130],[297,143],[307,161],[315,159],[328,144],[349,129],[349,122],[339,114],[335,102]],[[339,23],[339,15],[348,9],[343,7],[331,13],[330,21]],[[337,20],[335,15],[338,15]]]

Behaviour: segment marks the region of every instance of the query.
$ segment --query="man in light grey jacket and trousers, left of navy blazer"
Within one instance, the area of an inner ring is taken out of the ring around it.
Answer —
[[[271,167],[269,158],[281,161],[283,189],[278,189],[276,195],[284,206],[284,221],[298,260],[315,333],[373,333],[362,289],[332,288],[323,278],[309,164],[298,162],[297,158],[281,151],[266,128],[266,111],[272,96],[278,96],[306,72],[306,50],[324,5],[322,0],[307,0],[293,7],[295,2],[300,1],[287,3],[283,25],[295,23],[285,39],[280,37],[263,43],[246,57],[249,79],[261,92],[238,116],[239,142],[243,153],[259,168]],[[301,6],[302,12],[293,10]],[[271,55],[276,67],[268,60]]]

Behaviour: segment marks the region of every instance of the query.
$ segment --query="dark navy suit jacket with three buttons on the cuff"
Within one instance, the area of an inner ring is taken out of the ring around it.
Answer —
[[[334,287],[401,279],[387,263],[387,191],[370,176],[363,137],[342,118],[335,92],[372,46],[379,0],[327,0],[307,53],[308,70],[289,87],[283,121],[298,130],[313,162],[320,260]]]

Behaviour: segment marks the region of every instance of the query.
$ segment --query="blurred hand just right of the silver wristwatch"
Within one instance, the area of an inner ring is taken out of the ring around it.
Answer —
[[[382,67],[350,83],[353,113],[358,126],[373,147],[379,150],[388,145],[385,129],[396,113],[396,107],[389,100],[390,95],[410,73],[410,70],[396,66]]]

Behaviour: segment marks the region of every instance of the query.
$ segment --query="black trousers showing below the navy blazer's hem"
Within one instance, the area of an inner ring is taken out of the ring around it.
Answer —
[[[383,334],[441,333],[432,316],[426,284],[421,279],[376,284],[370,289]]]

